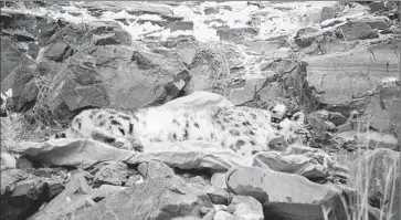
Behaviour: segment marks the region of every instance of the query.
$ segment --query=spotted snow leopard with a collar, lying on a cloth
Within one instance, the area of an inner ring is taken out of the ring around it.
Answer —
[[[303,127],[303,114],[297,117],[275,123],[270,111],[251,107],[86,109],[56,138],[94,138],[138,151],[155,142],[204,140],[249,156],[271,150],[268,143],[277,136],[291,139]]]

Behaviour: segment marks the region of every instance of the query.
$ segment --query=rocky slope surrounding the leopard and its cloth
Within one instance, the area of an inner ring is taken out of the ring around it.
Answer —
[[[399,157],[387,159],[401,143],[399,2],[1,4],[1,93],[12,90],[1,105],[13,112],[1,118],[1,219],[400,219]],[[277,169],[289,161],[281,156],[270,169],[219,161],[224,169],[204,174],[188,167],[189,155],[88,168],[53,154],[43,165],[44,145],[27,144],[17,165],[6,154],[82,109],[160,105],[194,91],[303,111],[308,147],[351,165],[350,178],[310,178],[305,154],[291,169]]]

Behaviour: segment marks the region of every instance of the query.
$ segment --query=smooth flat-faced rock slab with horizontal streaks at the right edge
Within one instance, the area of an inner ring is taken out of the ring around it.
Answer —
[[[383,42],[368,49],[308,57],[307,81],[324,104],[339,104],[362,97],[384,77],[399,77],[400,41]]]

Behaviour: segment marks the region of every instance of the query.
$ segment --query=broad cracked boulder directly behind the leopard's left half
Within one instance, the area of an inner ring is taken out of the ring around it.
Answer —
[[[178,96],[187,67],[177,54],[124,45],[89,48],[57,73],[48,104],[57,118],[83,107],[138,108]]]

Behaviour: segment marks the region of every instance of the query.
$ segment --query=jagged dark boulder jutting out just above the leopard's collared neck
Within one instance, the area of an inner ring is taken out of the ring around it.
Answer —
[[[306,112],[315,109],[315,99],[306,82],[305,62],[291,59],[266,61],[260,65],[260,75],[249,76],[242,86],[233,88],[230,101],[244,104],[251,101],[270,103],[276,98],[287,98],[303,105]]]

